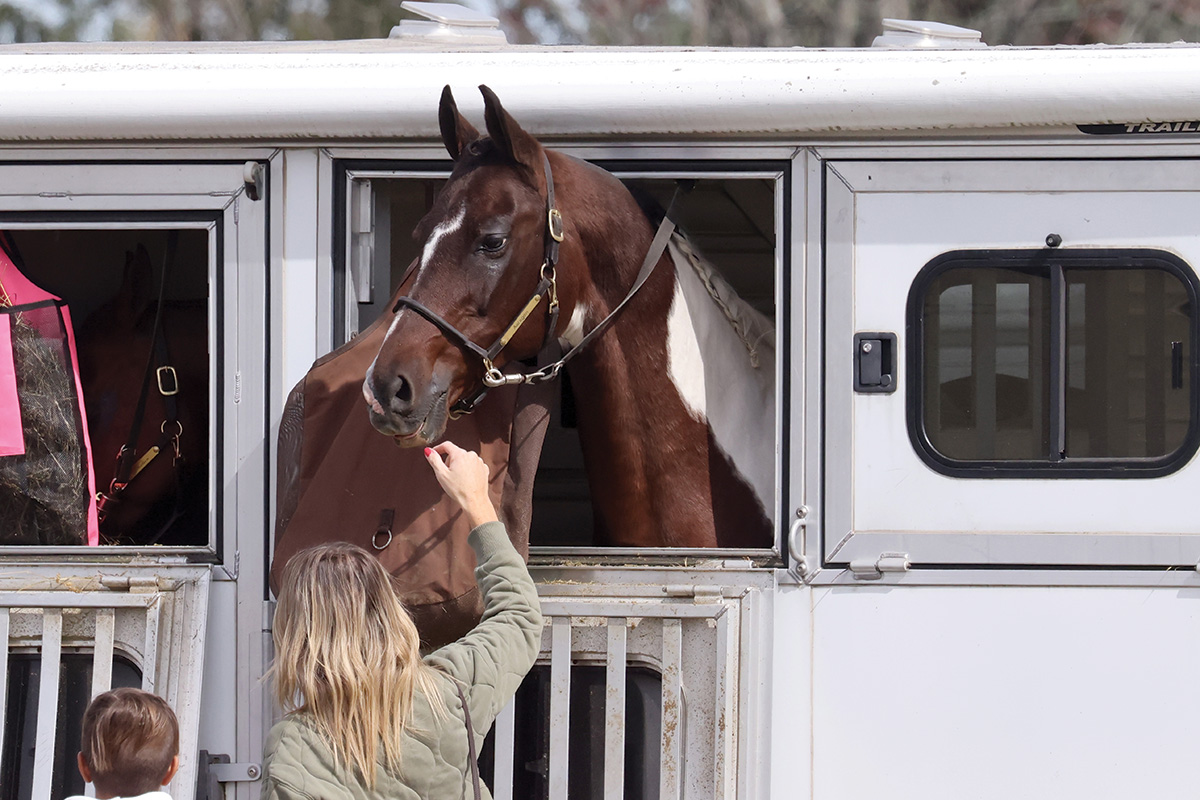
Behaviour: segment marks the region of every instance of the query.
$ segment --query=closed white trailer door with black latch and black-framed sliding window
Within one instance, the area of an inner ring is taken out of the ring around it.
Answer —
[[[1200,561],[1200,163],[824,181],[826,565]]]

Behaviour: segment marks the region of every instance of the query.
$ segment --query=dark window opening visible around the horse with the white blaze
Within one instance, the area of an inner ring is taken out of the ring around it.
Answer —
[[[738,297],[775,325],[786,258],[790,163],[715,158],[686,162],[596,160],[594,163],[619,178],[652,218],[655,213],[661,216],[676,187],[685,182],[688,191],[682,194],[674,215],[679,230]],[[413,241],[410,231],[432,207],[448,175],[444,162],[334,162],[334,347],[389,309],[388,300],[394,288],[420,255],[420,245]],[[745,344],[751,350],[755,345],[749,341]],[[780,372],[778,363],[761,368],[773,369],[776,377]],[[604,557],[622,548],[595,547],[590,493],[569,375],[564,373],[559,384],[560,402],[551,411],[534,483],[530,546],[551,557],[581,553]],[[775,443],[781,437],[779,427],[773,426]],[[782,449],[776,444],[774,451]],[[778,457],[772,497],[766,500],[767,511],[776,521],[772,540],[761,549],[745,551],[758,558],[763,552],[779,552],[778,487],[782,469],[781,457]],[[638,548],[636,554],[652,554],[654,549]],[[670,548],[661,549],[670,553]]]

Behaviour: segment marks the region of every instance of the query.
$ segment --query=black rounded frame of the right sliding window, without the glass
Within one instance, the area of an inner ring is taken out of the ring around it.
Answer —
[[[1146,247],[1121,248],[1027,248],[1027,249],[958,249],[941,253],[929,260],[917,273],[908,290],[906,306],[907,381],[906,417],[908,439],[920,459],[930,469],[952,477],[998,479],[1097,479],[1097,477],[1162,477],[1186,465],[1196,450],[1200,449],[1200,359],[1196,348],[1200,345],[1200,315],[1193,312],[1189,331],[1189,362],[1186,368],[1189,375],[1188,429],[1183,441],[1174,451],[1157,457],[1079,457],[1069,456],[1062,461],[1045,459],[962,459],[953,458],[937,450],[925,428],[925,315],[924,303],[929,289],[935,281],[947,272],[972,269],[1042,271],[1050,281],[1050,303],[1066,303],[1066,282],[1055,279],[1073,270],[1160,270],[1174,276],[1183,285],[1193,309],[1200,308],[1200,279],[1195,271],[1178,255],[1163,249]],[[1061,296],[1056,295],[1061,293]],[[1067,409],[1064,392],[1067,386],[1067,363],[1056,359],[1055,353],[1064,353],[1067,348],[1067,319],[1063,314],[1055,325],[1048,320],[1046,337],[1050,357],[1046,360],[1048,378],[1051,387],[1050,403],[1046,409],[1050,440],[1066,435]],[[1058,374],[1055,374],[1057,369]],[[1056,390],[1058,390],[1056,392]],[[1056,396],[1057,395],[1057,396]]]

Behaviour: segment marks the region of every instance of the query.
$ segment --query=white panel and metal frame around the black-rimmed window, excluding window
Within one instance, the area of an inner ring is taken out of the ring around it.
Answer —
[[[810,258],[820,254],[821,362],[808,374],[810,387],[820,381],[823,437],[820,495],[800,528],[820,542],[818,559],[810,558],[817,571],[806,579],[1162,585],[1194,578],[1200,535],[1187,504],[1196,459],[1164,477],[1120,483],[949,477],[912,450],[907,387],[893,396],[852,392],[850,348],[859,330],[905,331],[912,279],[947,249],[1038,247],[1057,233],[1069,246],[1156,247],[1196,263],[1195,150],[1115,154],[1061,142],[956,142],[824,145],[814,155],[808,243]],[[1147,215],[1154,224],[1146,223]],[[902,251],[888,248],[898,243]],[[834,308],[853,313],[828,313]],[[817,311],[817,302],[810,303],[810,318]],[[904,383],[907,341],[900,347]],[[810,417],[809,425],[817,423]],[[884,437],[887,447],[874,444]],[[892,437],[902,447],[893,446]],[[877,452],[860,457],[868,447]],[[930,501],[950,499],[940,494],[946,492],[953,501]]]

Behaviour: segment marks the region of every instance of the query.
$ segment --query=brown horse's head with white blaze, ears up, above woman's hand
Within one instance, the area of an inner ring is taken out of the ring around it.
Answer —
[[[487,86],[480,91],[487,136],[449,86],[442,92],[438,120],[455,167],[416,225],[424,247],[410,289],[362,386],[372,425],[402,446],[436,441],[488,368],[536,355],[575,305],[577,282],[556,275],[563,223],[548,216],[547,188],[547,179],[569,185],[574,160],[545,150]],[[560,255],[577,251],[568,236]]]

